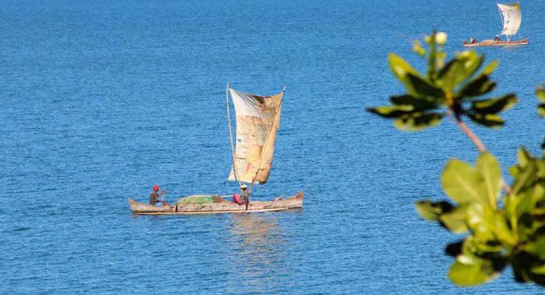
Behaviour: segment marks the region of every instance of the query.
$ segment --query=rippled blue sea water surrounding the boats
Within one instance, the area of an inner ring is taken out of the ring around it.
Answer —
[[[541,1],[522,1],[520,48],[497,94],[520,102],[498,131],[502,162],[545,134]],[[366,113],[403,91],[387,69],[432,28],[447,50],[500,30],[495,1],[41,1],[0,8],[0,293],[538,294],[510,271],[476,288],[446,278],[456,241],[421,220],[444,199],[447,159],[477,151],[452,120],[403,133]],[[153,184],[167,200],[230,194],[225,84],[287,85],[274,168],[255,199],[305,191],[297,212],[132,216]]]

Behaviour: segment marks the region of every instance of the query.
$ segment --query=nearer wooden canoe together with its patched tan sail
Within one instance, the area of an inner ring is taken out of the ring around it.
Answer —
[[[279,94],[259,96],[229,88],[227,83],[227,121],[233,155],[228,180],[237,181],[239,187],[242,182],[250,183],[249,193],[254,183],[263,185],[269,179],[285,91],[286,87]],[[237,119],[236,141],[233,140],[231,130],[229,94],[233,100]],[[234,142],[237,143],[236,150]],[[282,199],[281,195],[272,201],[249,200],[243,205],[219,195],[186,196],[173,205],[163,206],[152,206],[129,199],[129,205],[132,213],[143,215],[270,212],[302,208],[303,195],[301,191],[286,199]]]

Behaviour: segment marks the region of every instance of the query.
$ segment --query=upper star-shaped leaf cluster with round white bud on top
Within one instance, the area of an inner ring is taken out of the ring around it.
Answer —
[[[444,34],[444,33],[443,33]],[[491,93],[496,83],[490,79],[498,62],[481,67],[485,57],[475,51],[456,53],[446,64],[443,45],[436,42],[437,33],[426,37],[429,50],[415,41],[413,51],[424,56],[428,69],[422,75],[403,58],[391,53],[388,62],[393,75],[404,85],[407,93],[390,97],[390,106],[367,108],[371,113],[393,119],[400,130],[419,131],[438,125],[445,116],[457,120],[467,116],[476,124],[500,127],[504,121],[498,115],[518,101],[514,94],[477,99]]]

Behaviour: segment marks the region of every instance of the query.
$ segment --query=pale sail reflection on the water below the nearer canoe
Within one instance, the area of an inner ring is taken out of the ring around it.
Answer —
[[[284,259],[287,240],[278,218],[271,214],[233,214],[231,292],[274,292],[277,276],[289,273]]]

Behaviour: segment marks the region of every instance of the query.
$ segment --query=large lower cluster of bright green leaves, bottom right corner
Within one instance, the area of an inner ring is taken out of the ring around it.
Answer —
[[[445,249],[456,258],[448,276],[458,285],[493,280],[508,265],[516,281],[545,285],[545,158],[520,149],[518,159],[510,169],[513,189],[501,207],[500,164],[488,152],[481,153],[475,167],[457,159],[447,162],[441,184],[455,203],[416,202],[422,218],[467,233]]]

